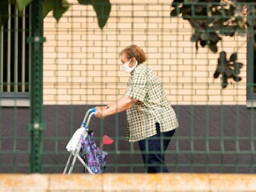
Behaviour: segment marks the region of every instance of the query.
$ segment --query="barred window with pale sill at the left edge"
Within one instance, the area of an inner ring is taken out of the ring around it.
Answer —
[[[0,28],[0,105],[29,105],[29,7],[18,17],[9,4],[9,20]]]

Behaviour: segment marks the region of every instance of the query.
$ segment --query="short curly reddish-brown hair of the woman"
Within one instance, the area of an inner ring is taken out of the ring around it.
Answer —
[[[146,54],[143,51],[142,48],[139,46],[132,44],[130,46],[127,46],[125,49],[123,49],[119,55],[121,54],[126,54],[127,59],[131,59],[132,57],[135,57],[136,60],[138,61],[138,64],[142,64],[145,62],[146,59]]]

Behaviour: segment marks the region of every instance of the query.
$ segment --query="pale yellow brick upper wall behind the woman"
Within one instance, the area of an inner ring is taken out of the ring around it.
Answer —
[[[44,104],[108,104],[122,96],[129,75],[119,52],[130,44],[147,53],[171,104],[245,104],[246,65],[241,82],[221,89],[220,78],[213,80],[219,54],[201,47],[196,53],[189,23],[169,17],[171,1],[110,1],[103,30],[92,6],[69,2],[59,22],[52,13],[44,20]],[[239,48],[239,62],[246,64],[245,41],[223,37],[219,51],[229,57]]]

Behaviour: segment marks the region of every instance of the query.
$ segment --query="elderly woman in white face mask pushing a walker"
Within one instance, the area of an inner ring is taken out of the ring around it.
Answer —
[[[148,173],[168,172],[164,154],[178,127],[176,114],[166,98],[160,80],[148,65],[143,49],[128,46],[120,52],[123,69],[130,73],[124,96],[108,106],[96,106],[101,119],[122,111],[127,113],[127,137],[139,142]]]

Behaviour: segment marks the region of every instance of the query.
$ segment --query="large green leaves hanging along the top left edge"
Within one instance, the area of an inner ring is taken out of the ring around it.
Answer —
[[[38,1],[38,0],[36,0]],[[53,11],[54,18],[58,21],[61,16],[69,9],[67,0],[42,0],[43,1],[43,17],[46,17],[49,12]],[[106,25],[108,20],[111,4],[109,0],[77,0],[82,5],[92,5],[98,18],[98,25],[101,29]],[[32,0],[11,0],[12,4],[17,6],[19,15],[22,15],[25,9]],[[0,27],[8,20],[8,4],[9,0],[1,0],[0,2]]]

